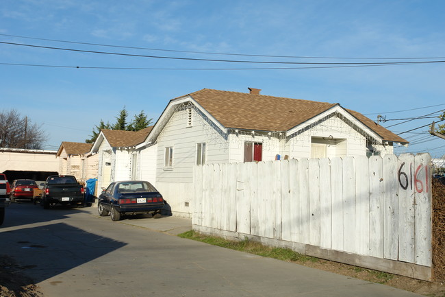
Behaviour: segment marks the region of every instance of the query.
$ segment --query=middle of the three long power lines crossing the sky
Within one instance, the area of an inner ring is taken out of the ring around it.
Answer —
[[[181,57],[168,57],[168,56],[153,56],[153,55],[138,55],[138,54],[123,54],[123,53],[113,53],[110,51],[88,51],[85,49],[67,49],[64,47],[45,47],[42,45],[27,45],[24,43],[6,43],[0,41],[4,45],[18,45],[22,47],[36,47],[39,49],[57,49],[60,51],[75,51],[88,54],[105,54],[114,56],[129,56],[137,58],[158,58],[158,59],[169,59],[169,60],[189,60],[189,61],[201,61],[201,62],[234,62],[234,63],[254,63],[254,64],[309,64],[309,65],[397,65],[397,64],[431,64],[431,63],[444,63],[445,60],[435,60],[435,61],[411,61],[411,62],[275,62],[275,61],[251,61],[251,60],[220,60],[220,59],[203,59],[203,58],[181,58]]]

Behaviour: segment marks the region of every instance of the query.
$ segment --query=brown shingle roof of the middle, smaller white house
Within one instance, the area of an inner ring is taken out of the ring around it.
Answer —
[[[101,130],[112,147],[131,147],[142,143],[150,133],[153,126],[139,131]]]

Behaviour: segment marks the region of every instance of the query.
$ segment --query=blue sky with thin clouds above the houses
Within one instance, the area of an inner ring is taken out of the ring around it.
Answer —
[[[201,88],[247,93],[247,88],[253,87],[261,88],[264,95],[339,103],[374,120],[379,114],[386,116],[389,121],[382,125],[387,127],[402,122],[395,119],[434,116],[445,109],[445,63],[321,69],[180,70],[327,65],[142,58],[5,43],[216,60],[443,61],[444,13],[445,1],[442,0],[2,0],[0,108],[16,108],[21,115],[42,125],[49,133],[44,148],[52,150],[62,141],[84,142],[90,138],[94,125],[101,119],[114,123],[124,106],[129,119],[144,110],[156,121],[168,100]],[[228,56],[190,51],[323,58]],[[411,120],[389,129],[405,132],[433,120]],[[412,145],[398,147],[395,152],[444,155],[445,141],[429,136],[427,129],[401,134]]]

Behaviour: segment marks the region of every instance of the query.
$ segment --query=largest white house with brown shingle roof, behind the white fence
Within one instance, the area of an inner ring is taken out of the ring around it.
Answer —
[[[340,104],[249,90],[204,88],[171,99],[138,146],[140,154],[147,149],[156,151],[156,187],[175,215],[192,214],[195,165],[384,155],[392,154],[396,143],[408,143]],[[140,165],[146,166],[144,162]]]

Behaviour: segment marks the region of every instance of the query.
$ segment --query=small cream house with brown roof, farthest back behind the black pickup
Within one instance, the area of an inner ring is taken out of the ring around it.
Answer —
[[[62,141],[55,157],[59,160],[59,174],[75,176],[79,182],[97,177],[97,156],[88,154],[90,143]]]

